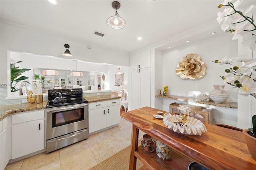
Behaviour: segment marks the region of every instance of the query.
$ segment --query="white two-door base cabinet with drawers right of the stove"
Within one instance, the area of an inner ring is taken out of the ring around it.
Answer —
[[[120,123],[120,99],[89,103],[89,133]]]

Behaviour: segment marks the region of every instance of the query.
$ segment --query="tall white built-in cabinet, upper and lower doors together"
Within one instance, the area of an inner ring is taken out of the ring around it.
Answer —
[[[135,60],[138,60],[135,62]],[[151,67],[150,51],[131,56],[131,110],[150,107]],[[137,66],[136,66],[137,65]],[[135,69],[134,69],[135,68]]]

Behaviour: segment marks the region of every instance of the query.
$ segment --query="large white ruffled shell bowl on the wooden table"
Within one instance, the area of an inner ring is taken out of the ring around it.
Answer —
[[[201,136],[202,132],[207,132],[207,129],[204,126],[204,124],[200,120],[195,119],[194,117],[187,116],[188,121],[186,123],[182,124],[183,126],[176,125],[176,123],[174,123],[174,122],[178,121],[178,119],[177,119],[178,116],[179,115],[167,115],[163,119],[164,125],[166,125],[170,129],[172,129],[174,132],[178,132],[178,133],[182,133],[182,134],[200,135]]]

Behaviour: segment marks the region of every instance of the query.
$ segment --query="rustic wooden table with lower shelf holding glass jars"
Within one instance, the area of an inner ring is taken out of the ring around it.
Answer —
[[[153,117],[158,111],[166,113],[143,107],[121,115],[132,123],[130,170],[136,169],[137,158],[152,170],[187,170],[191,162],[208,169],[256,170],[256,160],[250,155],[242,132],[204,123],[207,131],[202,135],[181,134],[164,125],[163,119]],[[156,152],[146,153],[138,147],[139,130],[172,148],[172,159],[162,160]]]

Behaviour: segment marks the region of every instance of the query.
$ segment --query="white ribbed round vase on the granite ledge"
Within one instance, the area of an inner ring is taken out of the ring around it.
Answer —
[[[213,87],[215,90],[210,92],[210,98],[215,103],[223,103],[228,100],[228,93],[223,90],[225,85],[213,85]]]

